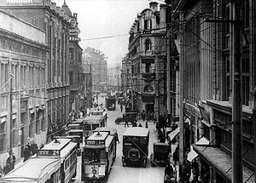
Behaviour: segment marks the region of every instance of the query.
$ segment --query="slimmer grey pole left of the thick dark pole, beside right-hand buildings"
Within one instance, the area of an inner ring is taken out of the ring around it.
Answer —
[[[179,14],[180,25],[180,60],[179,60],[179,168],[181,170],[184,159],[184,135],[183,135],[183,63],[184,63],[184,17],[183,12]],[[182,171],[179,171],[180,177]]]

